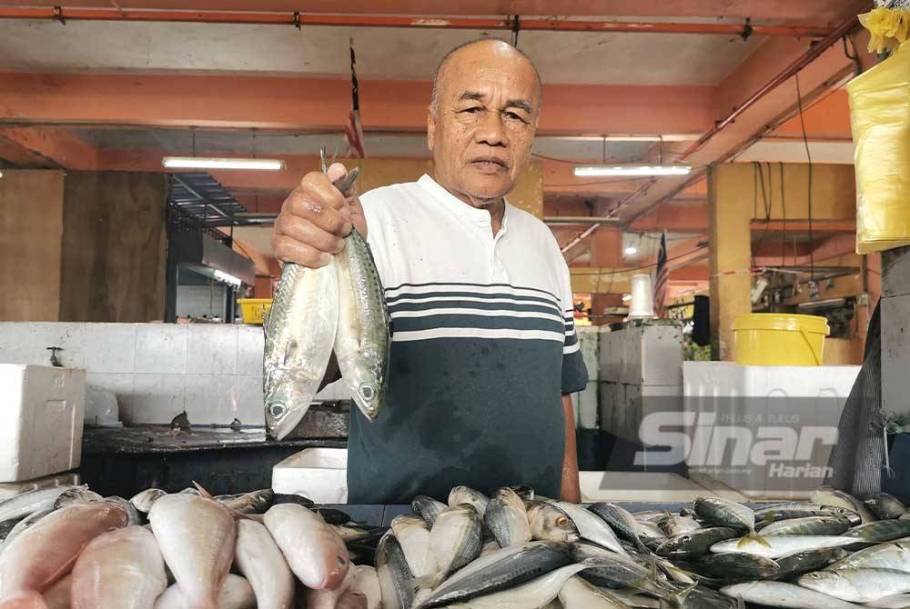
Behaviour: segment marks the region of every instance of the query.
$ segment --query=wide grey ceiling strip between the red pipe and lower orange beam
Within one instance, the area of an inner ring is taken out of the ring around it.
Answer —
[[[0,70],[347,75],[427,80],[453,46],[510,33],[375,27],[0,21]],[[738,36],[524,32],[550,84],[718,85],[763,43]],[[634,66],[632,68],[632,66]]]

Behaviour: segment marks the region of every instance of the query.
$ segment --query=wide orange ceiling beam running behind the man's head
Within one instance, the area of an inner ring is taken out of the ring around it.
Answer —
[[[366,130],[424,131],[429,81],[359,83]],[[687,134],[713,124],[713,87],[544,85],[540,135]],[[0,122],[337,130],[347,78],[0,73]]]

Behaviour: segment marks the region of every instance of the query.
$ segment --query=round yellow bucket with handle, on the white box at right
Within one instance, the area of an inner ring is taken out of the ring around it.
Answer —
[[[743,365],[822,365],[828,320],[818,315],[753,313],[733,320],[733,354]]]

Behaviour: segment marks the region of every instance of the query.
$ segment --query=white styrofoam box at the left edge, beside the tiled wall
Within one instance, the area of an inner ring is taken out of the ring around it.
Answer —
[[[78,467],[85,408],[85,370],[0,364],[0,482]]]

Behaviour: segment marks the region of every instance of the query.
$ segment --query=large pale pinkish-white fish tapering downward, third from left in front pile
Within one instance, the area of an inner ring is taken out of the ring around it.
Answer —
[[[148,522],[187,602],[215,609],[234,557],[234,514],[214,499],[168,494],[152,504]]]

